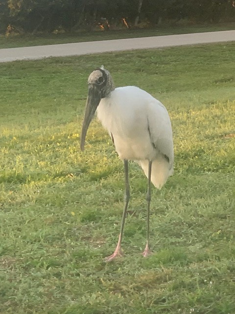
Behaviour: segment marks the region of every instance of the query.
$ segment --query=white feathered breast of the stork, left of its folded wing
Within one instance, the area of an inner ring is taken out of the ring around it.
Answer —
[[[103,127],[113,137],[121,159],[153,159],[156,150],[150,141],[147,116],[138,103],[132,105],[118,98],[104,98],[97,108]]]

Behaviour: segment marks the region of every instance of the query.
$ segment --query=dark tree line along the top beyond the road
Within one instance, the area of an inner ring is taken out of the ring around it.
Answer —
[[[235,0],[0,0],[0,33],[235,21]]]

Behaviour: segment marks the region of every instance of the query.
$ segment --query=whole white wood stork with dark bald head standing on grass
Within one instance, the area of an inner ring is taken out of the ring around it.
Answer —
[[[147,226],[146,245],[142,255],[152,252],[149,244],[149,214],[151,182],[161,189],[173,174],[173,135],[169,114],[164,105],[146,91],[136,86],[115,88],[108,70],[101,66],[88,78],[88,96],[81,130],[80,148],[85,148],[89,125],[97,113],[112,138],[116,151],[124,163],[125,194],[118,244],[114,253],[105,261],[123,256],[121,241],[130,199],[128,161],[139,163],[147,177]]]

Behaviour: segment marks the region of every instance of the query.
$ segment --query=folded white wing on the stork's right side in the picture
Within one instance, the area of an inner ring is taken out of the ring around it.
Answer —
[[[169,167],[173,166],[174,151],[171,122],[168,112],[159,101],[151,102],[147,114],[148,131],[153,146],[166,158]]]

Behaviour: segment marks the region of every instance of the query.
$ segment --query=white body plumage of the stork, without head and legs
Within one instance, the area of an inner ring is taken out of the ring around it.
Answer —
[[[171,123],[164,105],[138,87],[125,86],[102,98],[96,111],[114,140],[118,156],[137,160],[146,177],[151,160],[151,181],[161,188],[173,173],[174,156]]]

